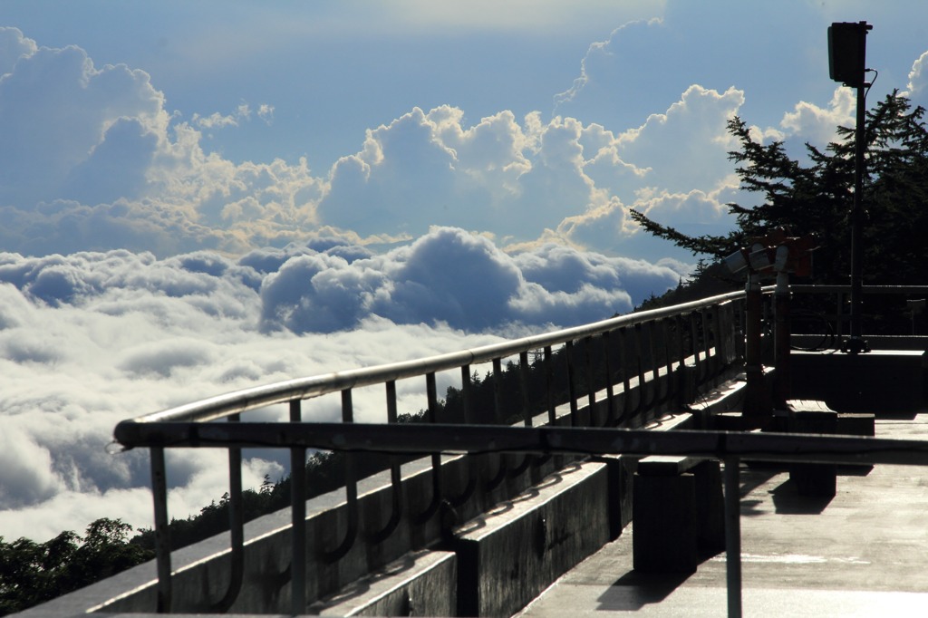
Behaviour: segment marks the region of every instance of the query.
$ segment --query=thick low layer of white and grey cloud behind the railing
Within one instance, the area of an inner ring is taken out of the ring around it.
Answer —
[[[144,454],[108,447],[122,418],[608,317],[677,277],[552,245],[509,255],[449,227],[381,253],[335,237],[238,259],[0,253],[0,530],[44,540],[104,515],[150,525]],[[403,411],[426,405],[413,381],[401,385]],[[382,418],[382,397],[356,393],[356,418]],[[339,402],[306,410],[338,418]],[[282,473],[283,454],[261,455],[247,462],[247,485]],[[179,452],[169,469],[175,517],[226,491],[222,454]]]

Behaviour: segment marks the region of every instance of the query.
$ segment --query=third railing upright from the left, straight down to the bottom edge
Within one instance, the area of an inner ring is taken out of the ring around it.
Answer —
[[[290,422],[303,422],[301,400],[290,401]],[[290,612],[306,612],[306,449],[290,449]]]

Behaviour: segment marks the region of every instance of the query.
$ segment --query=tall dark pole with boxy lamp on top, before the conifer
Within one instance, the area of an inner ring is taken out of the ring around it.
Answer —
[[[863,192],[866,172],[864,123],[866,122],[867,32],[873,29],[866,21],[835,22],[828,29],[828,59],[831,79],[857,88],[857,128],[854,149],[854,206],[851,211],[851,335],[841,349],[848,354],[870,352],[861,334],[863,302]]]

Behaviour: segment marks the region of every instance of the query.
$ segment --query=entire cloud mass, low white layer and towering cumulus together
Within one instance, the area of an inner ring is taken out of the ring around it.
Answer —
[[[564,109],[627,33],[591,45]],[[757,135],[833,131],[848,97]],[[122,418],[605,318],[676,286],[692,257],[627,209],[728,229],[725,123],[743,102],[691,85],[623,130],[415,108],[316,173],[203,148],[202,131],[269,122],[272,105],[185,120],[146,71],[0,27],[0,535],[45,540],[104,516],[149,526],[147,457],[110,444]],[[414,391],[404,411],[423,406]],[[379,418],[373,397],[357,403]],[[285,472],[251,455],[246,485]],[[173,516],[226,491],[225,461],[171,454]]]

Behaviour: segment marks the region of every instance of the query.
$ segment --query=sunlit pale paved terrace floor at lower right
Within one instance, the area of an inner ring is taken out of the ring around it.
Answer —
[[[928,415],[884,418],[877,435],[928,440]],[[843,470],[838,493],[797,496],[789,474],[741,469],[745,616],[928,615],[928,469]],[[725,616],[725,554],[689,577],[632,570],[631,527],[520,616],[636,612]]]

